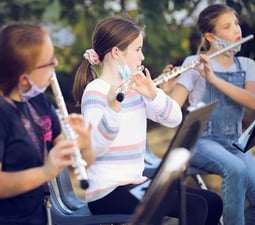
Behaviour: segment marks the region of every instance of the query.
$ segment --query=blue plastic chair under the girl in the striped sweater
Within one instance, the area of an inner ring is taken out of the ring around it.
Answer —
[[[51,214],[54,225],[101,225],[127,223],[131,215],[92,215],[88,205],[74,192],[68,168],[50,182]]]

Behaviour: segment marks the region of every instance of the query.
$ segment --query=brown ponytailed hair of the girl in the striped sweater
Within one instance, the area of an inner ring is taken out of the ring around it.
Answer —
[[[104,60],[105,55],[113,47],[118,47],[124,51],[139,36],[142,30],[142,27],[139,27],[128,18],[112,16],[100,21],[92,35],[92,46],[98,54],[100,62]],[[86,85],[97,77],[96,71],[89,62],[83,60],[76,71],[73,85],[73,95],[77,105],[80,105]]]

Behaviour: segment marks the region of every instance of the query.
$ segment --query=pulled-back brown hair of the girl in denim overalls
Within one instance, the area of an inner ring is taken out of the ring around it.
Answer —
[[[197,53],[207,51],[210,48],[210,43],[205,39],[205,33],[213,33],[216,21],[219,16],[226,12],[233,12],[234,9],[224,4],[213,4],[206,7],[198,16],[197,29],[200,32],[201,40],[198,46]]]

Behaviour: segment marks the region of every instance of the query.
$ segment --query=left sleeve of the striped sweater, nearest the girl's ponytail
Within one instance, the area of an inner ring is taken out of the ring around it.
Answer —
[[[107,105],[109,87],[102,83],[99,88],[97,85],[100,85],[97,81],[87,85],[81,101],[81,111],[86,123],[93,124],[92,145],[100,156],[108,151],[118,135],[120,115]]]

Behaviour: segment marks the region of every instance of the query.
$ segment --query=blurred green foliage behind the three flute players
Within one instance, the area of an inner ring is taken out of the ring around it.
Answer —
[[[60,62],[57,74],[63,95],[67,102],[72,102],[74,73],[83,60],[84,50],[91,47],[92,31],[98,20],[121,14],[146,25],[144,65],[155,78],[166,64],[180,65],[186,56],[196,52],[199,42],[196,17],[201,5],[212,3],[210,0],[1,0],[0,25],[19,21],[49,27]],[[244,36],[254,34],[254,0],[222,3],[238,12]],[[241,54],[254,59],[254,46],[254,40],[244,44]]]

